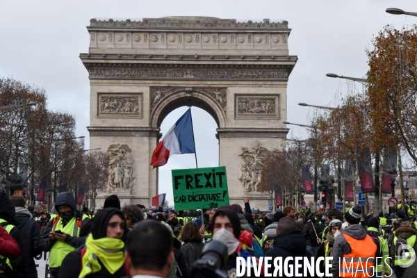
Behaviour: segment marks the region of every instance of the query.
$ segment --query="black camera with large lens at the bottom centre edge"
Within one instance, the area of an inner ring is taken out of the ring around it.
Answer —
[[[211,240],[203,248],[201,259],[193,263],[189,278],[228,278],[227,272],[222,270],[229,259],[227,247],[218,240]]]

